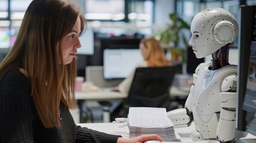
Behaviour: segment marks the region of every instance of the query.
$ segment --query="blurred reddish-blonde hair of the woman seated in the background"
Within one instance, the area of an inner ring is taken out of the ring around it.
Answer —
[[[161,43],[155,38],[142,39],[141,43],[147,49],[144,60],[147,61],[149,67],[171,66],[171,63],[166,59],[164,49]]]

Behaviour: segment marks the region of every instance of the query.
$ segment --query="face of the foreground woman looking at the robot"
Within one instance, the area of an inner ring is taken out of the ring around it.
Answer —
[[[81,32],[81,20],[78,17],[76,23],[74,24],[72,30],[64,36],[61,43],[57,43],[57,47],[61,46],[63,64],[69,64],[72,62],[73,58],[76,57],[76,52],[78,48],[81,48],[81,43],[79,41],[79,33]],[[57,52],[58,63],[61,63],[60,55]]]

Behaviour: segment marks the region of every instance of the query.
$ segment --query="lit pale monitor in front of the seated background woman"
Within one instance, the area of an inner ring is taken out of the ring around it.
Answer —
[[[140,49],[104,49],[104,79],[124,79],[143,61]]]

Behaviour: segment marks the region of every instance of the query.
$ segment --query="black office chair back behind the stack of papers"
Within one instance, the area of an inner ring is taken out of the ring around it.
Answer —
[[[135,70],[131,88],[124,105],[124,116],[129,107],[162,107],[171,110],[169,88],[176,67],[140,67]]]

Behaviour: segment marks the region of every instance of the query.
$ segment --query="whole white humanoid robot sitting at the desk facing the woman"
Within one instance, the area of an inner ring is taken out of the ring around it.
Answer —
[[[222,8],[196,14],[189,44],[197,58],[212,54],[210,62],[199,64],[184,108],[169,111],[175,128],[190,126],[193,141],[217,139],[235,142],[245,136],[235,129],[237,66],[229,64],[229,46],[238,35],[235,17]]]

